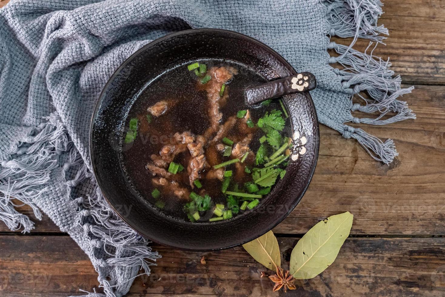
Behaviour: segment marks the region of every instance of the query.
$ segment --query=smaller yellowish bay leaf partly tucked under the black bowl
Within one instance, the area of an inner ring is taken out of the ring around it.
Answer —
[[[268,269],[276,270],[275,265],[281,265],[278,241],[272,231],[243,244],[243,248]]]

